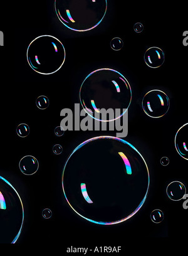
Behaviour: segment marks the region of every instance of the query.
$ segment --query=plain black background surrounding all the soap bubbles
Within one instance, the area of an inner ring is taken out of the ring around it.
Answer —
[[[137,22],[144,24],[140,34],[133,31]],[[183,209],[182,200],[169,200],[165,189],[175,180],[188,188],[187,161],[174,146],[175,133],[187,122],[188,46],[182,45],[182,33],[187,29],[185,6],[175,3],[170,3],[169,9],[159,2],[148,5],[111,0],[102,23],[81,33],[61,24],[53,0],[1,3],[4,46],[0,48],[0,175],[8,179],[23,201],[24,226],[16,243],[19,250],[26,245],[56,245],[65,253],[71,245],[118,245],[125,251],[128,245],[138,242],[147,247],[150,243],[157,246],[186,238],[188,210]],[[29,43],[41,35],[55,36],[65,46],[65,63],[52,75],[34,72],[26,59]],[[115,36],[124,42],[120,51],[110,48]],[[165,62],[159,68],[144,63],[144,53],[152,46],[165,53]],[[144,206],[129,220],[110,227],[89,223],[71,210],[63,195],[61,173],[78,144],[95,136],[115,136],[115,132],[67,131],[63,137],[54,134],[60,125],[61,109],[74,109],[74,104],[79,103],[81,82],[98,68],[113,68],[130,83],[133,96],[125,140],[140,151],[150,171],[149,196]],[[145,93],[152,89],[163,90],[170,99],[169,112],[160,119],[145,115],[141,107]],[[49,98],[48,109],[36,107],[39,95]],[[16,127],[22,122],[31,129],[26,138],[16,135]],[[63,146],[60,156],[53,154],[54,144]],[[28,154],[39,161],[39,170],[33,176],[25,176],[18,167],[19,160]],[[161,166],[162,156],[169,157],[168,166]],[[50,220],[42,217],[44,208],[51,209]],[[155,208],[164,211],[160,224],[150,220]]]

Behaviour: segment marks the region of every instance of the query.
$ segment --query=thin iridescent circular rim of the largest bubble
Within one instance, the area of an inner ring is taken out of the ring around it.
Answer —
[[[65,188],[64,188],[64,184],[63,184],[63,179],[64,179],[64,173],[65,173],[65,168],[66,168],[66,164],[68,163],[70,157],[76,152],[78,151],[78,149],[80,149],[81,147],[83,147],[84,145],[86,145],[87,143],[91,142],[91,141],[96,141],[97,139],[113,139],[115,141],[120,141],[122,142],[123,144],[127,144],[128,146],[132,147],[132,149],[134,149],[139,155],[140,157],[142,158],[142,160],[144,161],[145,163],[145,160],[144,160],[144,157],[140,154],[140,152],[138,152],[138,150],[132,146],[132,144],[130,144],[129,142],[127,141],[124,141],[123,139],[120,139],[118,137],[113,137],[113,136],[99,136],[99,137],[93,137],[91,139],[88,139],[86,140],[85,142],[82,142],[79,146],[77,146],[74,151],[70,154],[70,156],[68,157],[66,163],[65,163],[65,166],[63,168],[63,174],[62,174],[62,188],[63,188],[63,193],[65,195],[65,198],[66,198],[66,201],[68,202],[68,204],[71,206],[71,203],[68,201],[68,198],[66,197],[66,193],[65,193]],[[79,216],[81,216],[82,218],[85,218],[85,220],[88,220],[90,222],[93,222],[95,224],[100,224],[100,225],[113,225],[113,224],[117,224],[117,223],[122,223],[123,221],[125,220],[128,220],[129,218],[131,218],[133,215],[135,215],[135,213],[137,213],[138,210],[140,210],[140,208],[142,207],[142,205],[144,205],[144,202],[147,198],[147,195],[148,195],[148,192],[149,192],[149,184],[150,184],[150,176],[149,176],[149,169],[147,167],[147,164],[145,163],[145,167],[147,168],[147,174],[148,174],[148,186],[147,186],[147,191],[145,193],[145,196],[143,198],[143,200],[140,202],[140,204],[137,206],[137,208],[130,214],[128,215],[127,217],[125,218],[122,218],[121,220],[117,220],[117,221],[110,221],[110,222],[105,222],[105,221],[95,221],[95,220],[91,220],[90,218],[86,218],[85,216],[81,215],[80,213],[78,213],[78,211],[76,211],[73,206],[71,206],[71,208],[73,209],[73,211],[75,211],[75,213],[77,213]]]

